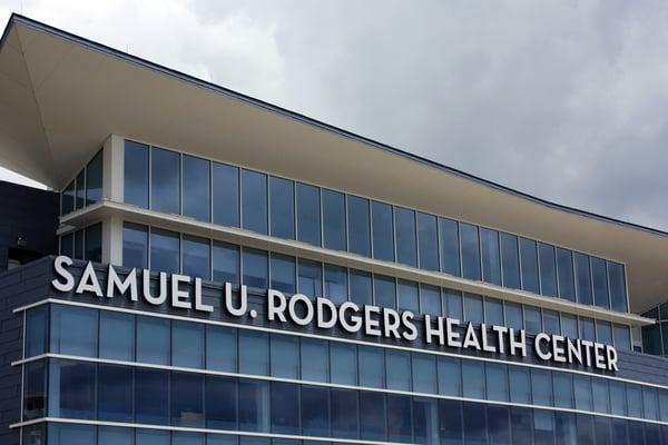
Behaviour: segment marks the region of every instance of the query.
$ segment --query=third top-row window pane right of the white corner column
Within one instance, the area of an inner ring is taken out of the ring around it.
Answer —
[[[210,211],[210,162],[206,159],[184,155],[184,215],[209,221]]]

